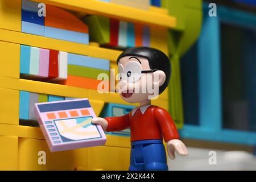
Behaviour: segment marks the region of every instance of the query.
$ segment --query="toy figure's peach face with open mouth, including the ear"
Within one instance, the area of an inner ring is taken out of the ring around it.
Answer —
[[[118,62],[118,76],[117,92],[123,100],[130,103],[158,96],[159,86],[166,80],[163,71],[153,71],[148,60],[138,56],[122,57]]]

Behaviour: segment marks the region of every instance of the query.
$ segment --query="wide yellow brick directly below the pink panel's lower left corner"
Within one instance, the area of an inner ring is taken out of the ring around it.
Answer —
[[[50,152],[45,140],[19,138],[19,170],[88,169],[88,148]]]

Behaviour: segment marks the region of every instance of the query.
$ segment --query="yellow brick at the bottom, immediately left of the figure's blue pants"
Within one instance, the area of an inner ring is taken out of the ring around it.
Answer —
[[[128,170],[130,148],[91,147],[88,156],[90,170]]]

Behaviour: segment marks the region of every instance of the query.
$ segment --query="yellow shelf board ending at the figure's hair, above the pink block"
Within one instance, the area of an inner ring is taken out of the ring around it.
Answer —
[[[27,46],[34,46],[46,49],[55,49],[58,51],[98,57],[107,60],[116,60],[117,57],[122,53],[121,51],[115,51],[113,49],[88,46],[85,44],[51,39],[44,36],[25,34],[22,32],[5,30],[0,28],[0,41],[1,40],[4,42],[24,44]]]

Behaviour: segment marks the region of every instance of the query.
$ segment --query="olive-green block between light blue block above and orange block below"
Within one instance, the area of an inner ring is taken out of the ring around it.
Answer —
[[[68,65],[68,75],[72,76],[79,76],[79,77],[87,77],[87,78],[98,78],[98,75],[101,73],[105,73],[109,77],[109,71],[105,71],[102,69],[95,69],[95,68],[89,68],[89,67],[81,67],[78,65]]]

